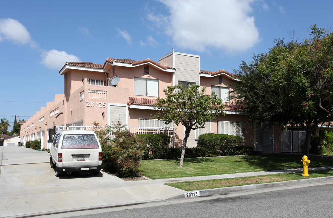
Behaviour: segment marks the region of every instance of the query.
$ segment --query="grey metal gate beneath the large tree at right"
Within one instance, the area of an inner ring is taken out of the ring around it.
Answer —
[[[305,131],[281,131],[281,152],[303,152]]]

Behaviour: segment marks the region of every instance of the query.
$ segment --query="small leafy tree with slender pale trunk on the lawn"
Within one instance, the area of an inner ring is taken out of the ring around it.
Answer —
[[[213,93],[207,95],[205,87],[200,91],[199,85],[182,88],[168,86],[164,93],[166,98],[159,98],[155,109],[159,109],[153,118],[164,119],[165,123],[174,121],[185,127],[185,134],[179,166],[183,165],[187,138],[191,130],[203,128],[205,121],[216,119],[219,114],[225,114],[222,101]]]

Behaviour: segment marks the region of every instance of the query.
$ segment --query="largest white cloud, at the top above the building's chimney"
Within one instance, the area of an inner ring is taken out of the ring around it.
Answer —
[[[169,9],[169,16],[148,11],[147,19],[156,27],[166,27],[166,34],[176,46],[195,51],[217,48],[239,52],[259,41],[254,17],[249,15],[254,0],[160,1]]]

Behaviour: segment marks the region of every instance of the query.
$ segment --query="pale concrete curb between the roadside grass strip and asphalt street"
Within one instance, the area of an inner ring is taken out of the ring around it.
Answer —
[[[232,187],[214,188],[214,189],[198,190],[198,191],[200,192],[200,197],[201,197],[201,196],[211,196],[218,194],[222,195],[234,192],[253,191],[253,190],[275,188],[275,187],[288,187],[294,185],[303,185],[303,184],[311,184],[311,183],[326,182],[326,181],[333,182],[333,176],[311,178],[311,179],[298,179],[298,180],[290,180],[283,182],[270,182],[270,183],[254,184],[254,185],[232,186]],[[185,198],[185,197],[183,194],[180,194],[168,198],[166,200],[173,200],[180,198]]]

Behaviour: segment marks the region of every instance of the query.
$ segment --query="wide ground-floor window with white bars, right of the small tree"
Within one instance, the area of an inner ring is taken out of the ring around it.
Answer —
[[[217,121],[217,134],[235,135],[244,138],[244,122]]]

